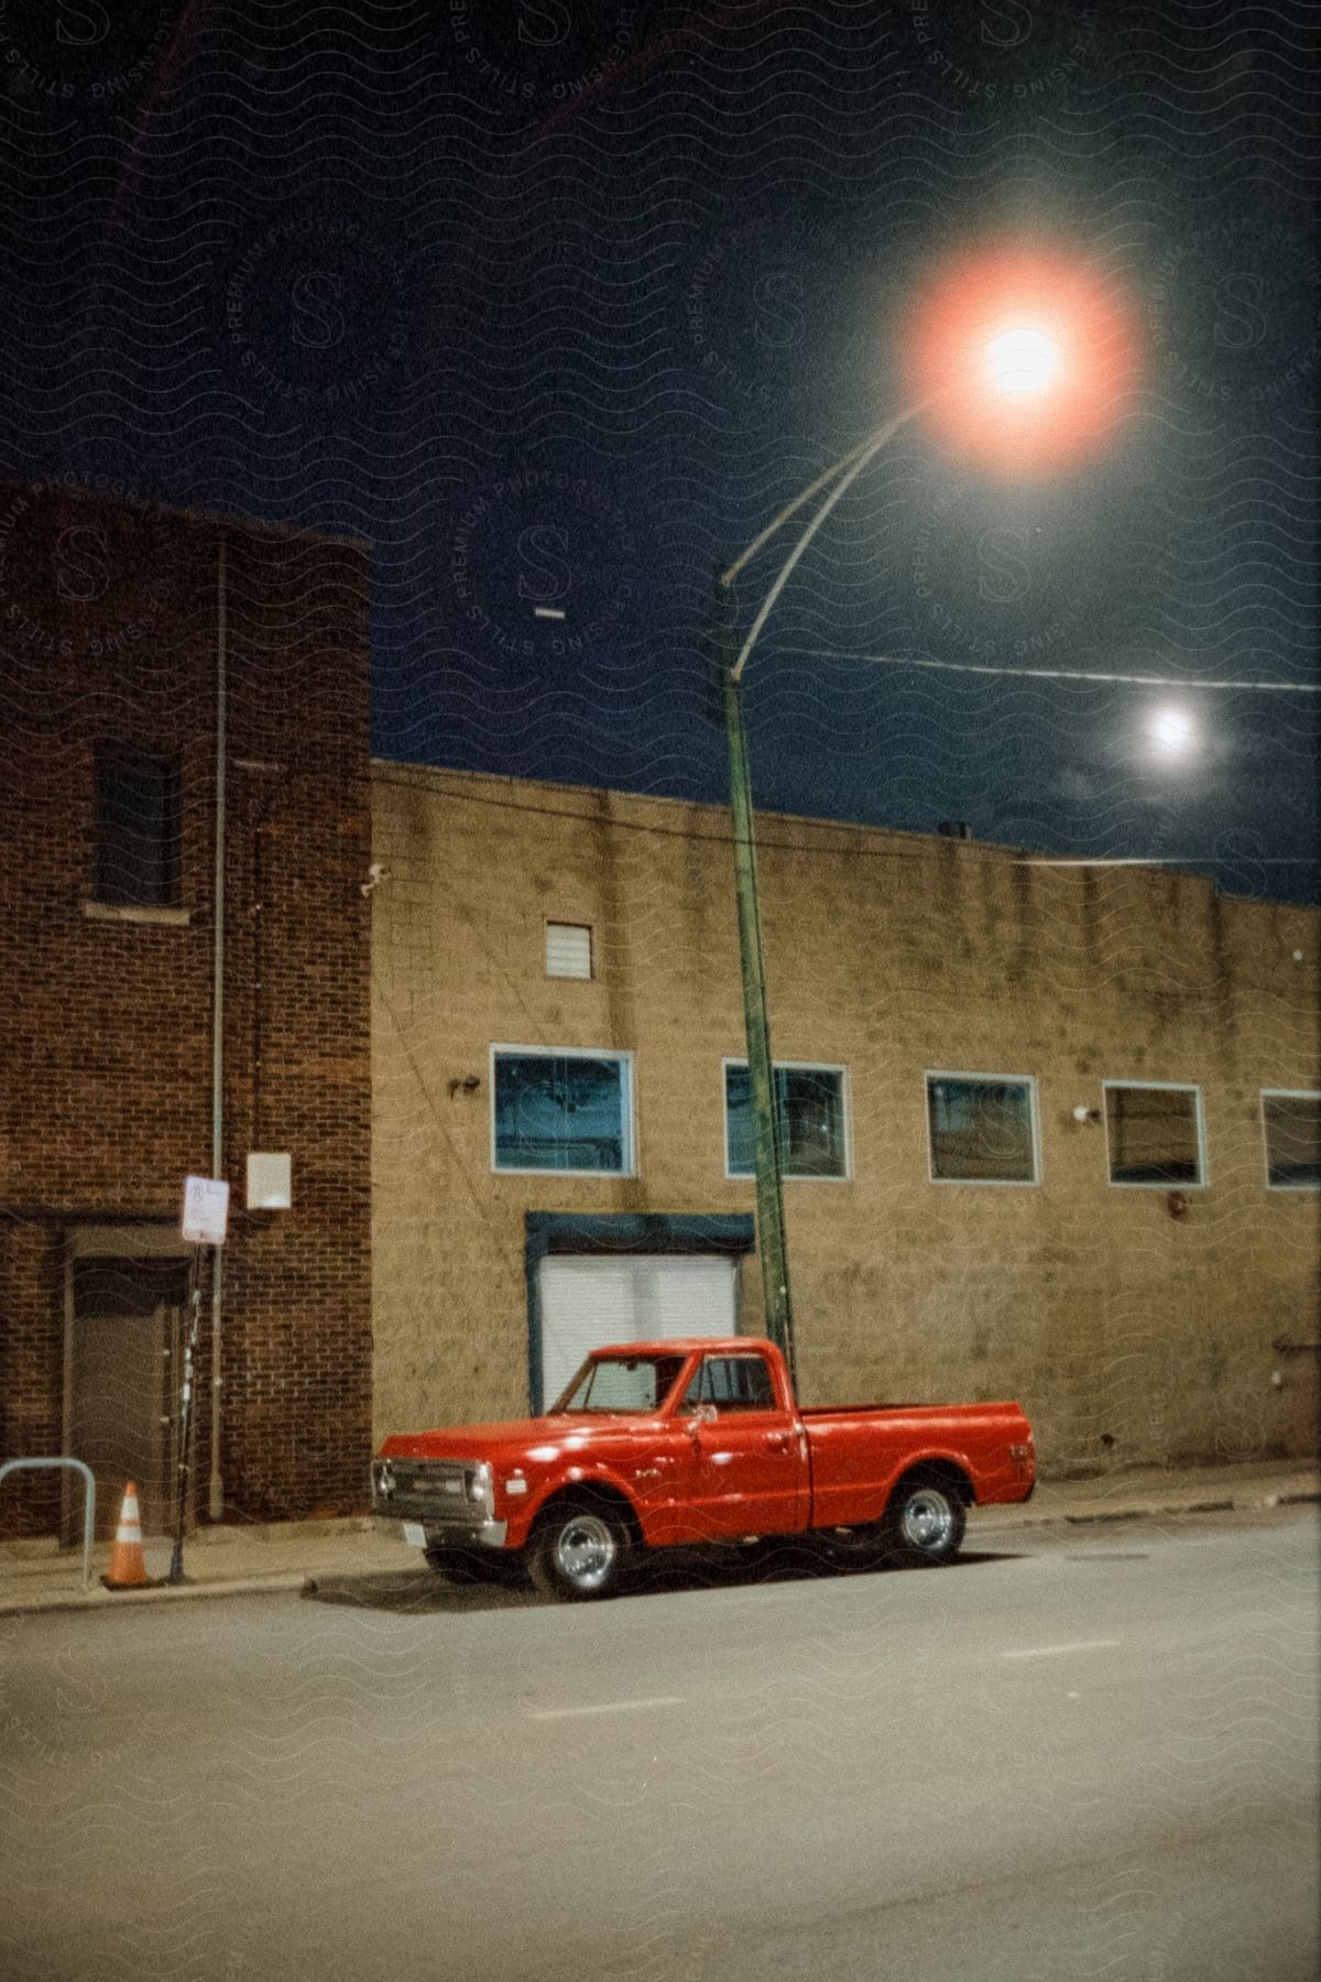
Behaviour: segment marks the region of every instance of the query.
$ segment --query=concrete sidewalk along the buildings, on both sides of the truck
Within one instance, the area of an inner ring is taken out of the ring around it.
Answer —
[[[1141,1516],[1264,1510],[1321,1500],[1321,1475],[1303,1461],[1242,1467],[1143,1467],[1089,1481],[1042,1481],[1026,1506],[974,1510],[968,1540],[1012,1534],[1050,1522],[1107,1522]],[[61,1609],[125,1609],[133,1603],[180,1603],[190,1597],[293,1592],[309,1580],[380,1576],[420,1568],[422,1556],[368,1518],[277,1522],[269,1528],[202,1528],[184,1544],[180,1586],[103,1590],[109,1542],[93,1556],[83,1590],[83,1552],[53,1542],[0,1542],[0,1617]],[[147,1574],[164,1578],[170,1544],[147,1536]]]

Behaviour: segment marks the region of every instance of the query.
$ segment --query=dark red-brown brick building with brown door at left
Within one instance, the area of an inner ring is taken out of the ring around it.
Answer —
[[[360,543],[0,488],[0,1457],[87,1459],[111,1516],[125,1477],[166,1512],[216,1167],[198,1512],[362,1504],[366,585]],[[0,1532],[59,1502],[10,1477]]]

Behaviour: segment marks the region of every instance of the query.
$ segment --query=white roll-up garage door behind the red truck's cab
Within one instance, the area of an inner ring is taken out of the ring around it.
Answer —
[[[551,1253],[539,1263],[541,1397],[590,1350],[665,1336],[733,1336],[735,1263],[709,1253]]]

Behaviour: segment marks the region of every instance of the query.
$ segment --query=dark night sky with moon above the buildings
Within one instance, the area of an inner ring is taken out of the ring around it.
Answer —
[[[935,268],[1077,256],[1123,418],[877,456],[757,801],[1311,898],[1315,75],[1303,0],[0,0],[0,468],[372,537],[378,755],[723,799],[715,567],[905,406]]]

